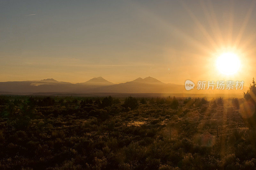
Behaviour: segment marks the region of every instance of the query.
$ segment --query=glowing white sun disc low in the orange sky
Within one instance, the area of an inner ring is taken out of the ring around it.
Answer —
[[[235,74],[240,67],[240,60],[235,53],[222,53],[216,60],[216,67],[221,74]]]

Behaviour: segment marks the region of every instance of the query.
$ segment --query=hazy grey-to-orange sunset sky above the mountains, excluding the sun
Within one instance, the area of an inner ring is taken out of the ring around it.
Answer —
[[[256,68],[255,1],[0,1],[0,81],[102,76],[243,80]],[[35,15],[31,15],[35,14]],[[215,62],[236,53],[238,72]]]

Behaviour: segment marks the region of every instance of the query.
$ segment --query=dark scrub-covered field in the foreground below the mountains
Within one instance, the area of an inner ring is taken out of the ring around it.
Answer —
[[[0,169],[255,169],[244,96],[1,96]]]

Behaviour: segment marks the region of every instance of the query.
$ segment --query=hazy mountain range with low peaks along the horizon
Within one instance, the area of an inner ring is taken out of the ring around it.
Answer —
[[[0,94],[32,94],[32,93],[240,93],[243,90],[196,90],[187,91],[184,85],[163,83],[153,77],[137,78],[133,81],[115,84],[102,77],[95,77],[82,83],[69,83],[54,79],[40,81],[6,81],[0,82]]]

